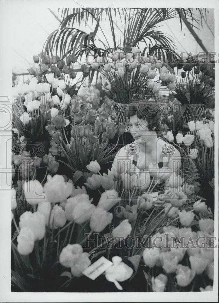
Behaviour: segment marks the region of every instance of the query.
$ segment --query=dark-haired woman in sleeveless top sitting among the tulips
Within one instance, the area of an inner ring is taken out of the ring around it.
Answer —
[[[137,170],[141,179],[134,189],[145,192],[150,186],[150,191],[161,193],[165,189],[165,181],[167,185],[172,172],[180,168],[180,153],[174,146],[158,137],[161,125],[158,105],[130,103],[127,105],[127,115],[134,142],[118,151],[113,162],[114,167],[121,168],[124,161],[126,165],[129,162],[126,166],[127,173],[132,175]]]

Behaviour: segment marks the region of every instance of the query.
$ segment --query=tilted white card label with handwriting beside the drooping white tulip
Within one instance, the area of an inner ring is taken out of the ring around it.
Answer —
[[[102,273],[104,273],[108,267],[112,265],[113,263],[111,261],[107,260],[105,257],[101,257],[84,271],[82,271],[82,274],[91,280],[95,280]]]

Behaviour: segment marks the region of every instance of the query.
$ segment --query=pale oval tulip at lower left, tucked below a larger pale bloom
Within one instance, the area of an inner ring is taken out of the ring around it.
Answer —
[[[19,254],[29,255],[34,249],[34,233],[31,228],[21,228],[17,237],[17,241]]]

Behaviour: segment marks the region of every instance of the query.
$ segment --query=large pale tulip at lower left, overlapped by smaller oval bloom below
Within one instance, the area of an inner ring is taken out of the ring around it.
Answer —
[[[19,226],[20,228],[29,227],[34,233],[34,240],[41,240],[46,231],[46,219],[39,211],[34,213],[25,211],[20,216]]]

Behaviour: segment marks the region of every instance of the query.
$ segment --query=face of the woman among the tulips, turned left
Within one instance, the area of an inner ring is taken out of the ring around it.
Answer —
[[[147,128],[148,122],[138,118],[137,115],[130,117],[130,132],[135,142],[143,143],[146,141],[150,130]]]

